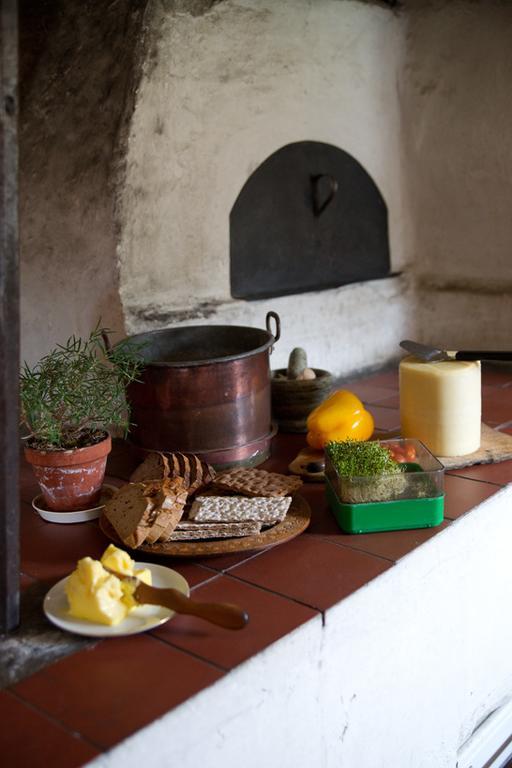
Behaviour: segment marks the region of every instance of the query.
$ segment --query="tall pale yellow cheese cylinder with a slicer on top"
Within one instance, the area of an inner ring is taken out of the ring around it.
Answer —
[[[416,437],[436,456],[464,456],[480,447],[480,362],[400,363],[402,437]]]

